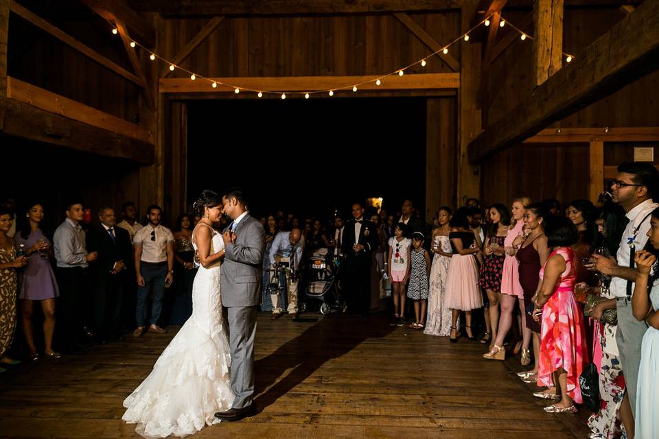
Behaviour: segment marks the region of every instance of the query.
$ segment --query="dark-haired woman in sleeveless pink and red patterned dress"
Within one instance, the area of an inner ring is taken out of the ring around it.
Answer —
[[[577,264],[570,248],[579,239],[577,228],[565,217],[553,219],[546,227],[547,244],[553,249],[540,270],[542,285],[535,297],[533,318],[540,322],[540,361],[537,384],[551,386],[558,383],[561,394],[554,388],[534,393],[542,399],[560,400],[545,407],[549,413],[575,413],[573,403],[581,403],[579,375],[586,361],[586,335],[583,317],[575,300]],[[553,379],[552,379],[553,375]]]

